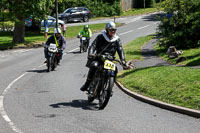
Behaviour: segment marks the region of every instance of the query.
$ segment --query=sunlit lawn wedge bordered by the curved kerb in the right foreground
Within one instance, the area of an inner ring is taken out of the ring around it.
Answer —
[[[150,67],[120,72],[117,80],[142,95],[200,110],[200,69]]]

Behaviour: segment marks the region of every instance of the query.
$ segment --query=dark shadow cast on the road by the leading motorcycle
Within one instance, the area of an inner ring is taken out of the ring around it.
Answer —
[[[87,100],[72,100],[72,102],[62,102],[49,105],[52,108],[74,107],[82,108],[84,110],[99,110],[96,103],[88,103]]]

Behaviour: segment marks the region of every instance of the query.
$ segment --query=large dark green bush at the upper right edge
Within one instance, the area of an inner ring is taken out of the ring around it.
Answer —
[[[159,32],[161,44],[178,49],[200,47],[200,1],[166,0],[164,11],[167,15],[161,20]]]

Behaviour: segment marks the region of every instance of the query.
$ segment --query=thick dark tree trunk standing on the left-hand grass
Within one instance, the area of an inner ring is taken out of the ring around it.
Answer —
[[[13,43],[23,43],[25,41],[24,36],[25,36],[24,24],[20,22],[15,22],[15,28],[14,28],[14,33],[13,33]]]

